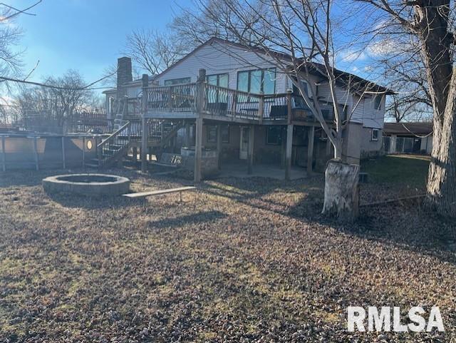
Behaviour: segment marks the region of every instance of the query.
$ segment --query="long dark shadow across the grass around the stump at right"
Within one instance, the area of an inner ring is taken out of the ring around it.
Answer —
[[[341,223],[321,215],[323,183],[318,179],[276,181],[269,179],[219,179],[204,191],[261,210],[286,215],[306,224],[333,227],[344,234],[375,240],[400,249],[432,255],[456,263],[456,224],[415,202],[361,208],[356,222]],[[272,193],[300,193],[294,203],[281,203]],[[271,199],[272,198],[272,199]]]

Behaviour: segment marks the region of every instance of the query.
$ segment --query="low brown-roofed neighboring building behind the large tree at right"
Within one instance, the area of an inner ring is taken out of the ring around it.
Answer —
[[[432,153],[432,123],[385,123],[385,153]]]

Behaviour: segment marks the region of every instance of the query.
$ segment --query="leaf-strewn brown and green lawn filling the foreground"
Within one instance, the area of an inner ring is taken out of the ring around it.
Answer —
[[[130,177],[133,190],[185,184]],[[319,215],[321,175],[153,198],[48,197],[0,175],[0,342],[451,342],[455,224],[420,208]],[[349,305],[437,305],[445,334],[346,332]]]

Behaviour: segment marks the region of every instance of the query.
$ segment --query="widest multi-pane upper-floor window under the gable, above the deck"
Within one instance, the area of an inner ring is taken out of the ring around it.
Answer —
[[[276,91],[276,68],[239,71],[237,90],[247,93],[274,94]]]

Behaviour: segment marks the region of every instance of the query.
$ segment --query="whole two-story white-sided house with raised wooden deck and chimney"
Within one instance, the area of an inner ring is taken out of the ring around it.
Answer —
[[[274,53],[290,62],[286,54]],[[273,165],[284,168],[286,178],[291,166],[308,173],[323,170],[333,157],[332,145],[289,76],[275,66],[259,48],[215,38],[153,78],[133,81],[130,59],[120,58],[118,87],[104,92],[106,106],[117,128],[141,113],[141,130],[146,125],[149,132],[149,139],[142,135],[144,155],[165,140],[173,153],[206,157],[206,166],[210,155],[218,168],[247,160],[249,171],[253,165]],[[311,73],[304,86],[309,94],[314,88],[323,116],[333,126],[328,82],[318,66]],[[336,77],[338,102],[348,116],[343,155],[359,163],[382,151],[385,96],[392,92],[350,73],[336,71]],[[163,144],[160,148],[165,149]],[[195,168],[195,178],[198,172]]]

